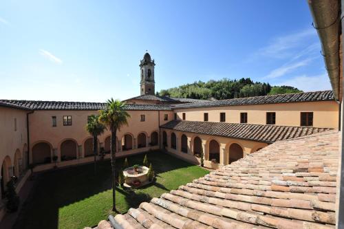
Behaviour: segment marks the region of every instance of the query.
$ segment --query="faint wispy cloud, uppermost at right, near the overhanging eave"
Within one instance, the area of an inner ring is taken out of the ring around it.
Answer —
[[[273,39],[270,45],[262,47],[258,50],[259,55],[270,56],[273,58],[286,58],[293,54],[296,47],[300,47],[305,39],[316,36],[316,31],[313,28],[302,30],[286,36],[278,36]]]

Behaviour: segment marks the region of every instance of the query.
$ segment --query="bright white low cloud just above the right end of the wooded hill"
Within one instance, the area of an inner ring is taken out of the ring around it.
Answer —
[[[327,73],[317,76],[295,76],[281,83],[277,83],[276,85],[288,85],[297,87],[303,91],[323,91],[331,89],[330,79],[328,78]]]

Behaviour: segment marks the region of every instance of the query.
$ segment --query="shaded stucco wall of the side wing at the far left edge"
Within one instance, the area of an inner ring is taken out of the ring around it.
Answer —
[[[24,152],[27,151],[28,146],[26,129],[27,112],[19,109],[0,107],[0,166],[6,161],[7,168],[3,174],[5,186],[9,181],[10,175],[20,177],[26,168]],[[17,131],[14,131],[14,118],[17,119]],[[12,166],[14,166],[14,173],[12,173]]]

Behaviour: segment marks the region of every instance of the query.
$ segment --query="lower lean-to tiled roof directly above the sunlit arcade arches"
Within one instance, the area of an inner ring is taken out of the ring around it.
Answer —
[[[239,138],[257,142],[272,143],[277,140],[297,138],[327,131],[327,128],[316,127],[286,127],[261,124],[243,124],[227,122],[198,122],[173,120],[160,126],[175,131],[217,135],[227,138]]]

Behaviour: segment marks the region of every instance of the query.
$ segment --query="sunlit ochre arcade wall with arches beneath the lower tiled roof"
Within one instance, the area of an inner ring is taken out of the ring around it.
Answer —
[[[184,160],[187,160],[193,164],[200,164],[200,158],[195,157],[193,155],[194,152],[194,146],[193,142],[195,137],[199,137],[202,140],[202,149],[204,152],[204,166],[208,168],[219,168],[221,166],[224,166],[228,164],[229,157],[230,157],[230,145],[231,144],[239,144],[241,146],[241,149],[243,150],[244,157],[250,153],[254,153],[257,151],[257,149],[264,148],[267,146],[267,143],[264,142],[254,142],[249,140],[241,140],[241,139],[235,139],[235,138],[224,138],[214,135],[204,135],[204,134],[198,134],[198,133],[190,133],[190,132],[184,132],[184,131],[173,131],[171,129],[161,129],[161,140],[162,135],[166,131],[167,134],[167,146],[165,147],[166,151],[169,153],[172,153],[173,155],[176,155]],[[171,148],[171,134],[175,133],[177,137],[177,144],[176,149]],[[181,151],[181,139],[182,135],[186,135],[187,142],[188,142],[188,152],[182,153]],[[219,144],[219,162],[217,164],[211,162],[208,160],[208,153],[209,153],[209,143],[211,140],[215,140]]]

